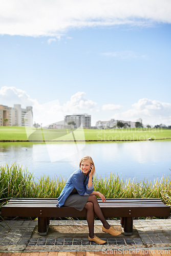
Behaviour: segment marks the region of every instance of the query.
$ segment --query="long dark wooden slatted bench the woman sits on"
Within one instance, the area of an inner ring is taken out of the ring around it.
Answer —
[[[124,234],[133,232],[133,217],[169,217],[170,207],[159,198],[135,199],[98,199],[104,217],[121,217]],[[38,232],[46,235],[49,219],[55,217],[86,217],[86,209],[82,211],[73,207],[56,207],[56,199],[44,198],[12,198],[2,206],[4,217],[38,217]]]

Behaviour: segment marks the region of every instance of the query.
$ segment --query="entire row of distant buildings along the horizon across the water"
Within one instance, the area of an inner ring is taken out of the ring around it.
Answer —
[[[3,110],[5,110],[5,113],[1,113]],[[7,113],[9,112],[9,113]],[[6,121],[5,121],[5,119]],[[4,121],[3,121],[4,120]],[[142,122],[142,119],[139,118],[135,122],[132,122],[130,120],[116,120],[116,119],[111,119],[111,120],[96,120],[95,125],[91,125],[91,115],[88,113],[84,114],[72,114],[72,115],[66,115],[63,116],[63,120],[60,120],[58,122],[50,123],[48,125],[45,125],[44,127],[46,128],[51,128],[51,129],[65,129],[66,125],[69,124],[69,122],[74,122],[72,125],[76,128],[78,127],[83,127],[83,128],[88,128],[88,129],[94,129],[95,127],[97,129],[113,129],[116,127],[119,128],[135,128],[135,127],[147,127],[147,128],[153,128],[151,125],[145,125]],[[3,123],[4,122],[4,123]],[[118,124],[119,122],[119,124]],[[121,126],[120,126],[121,123]],[[137,124],[136,124],[137,123]],[[140,125],[140,126],[137,126]],[[26,127],[42,127],[42,122],[36,123],[34,121],[33,124],[33,111],[32,111],[32,106],[26,106],[26,109],[22,108],[22,105],[20,104],[14,104],[13,108],[7,105],[1,105],[0,104],[0,126],[26,126]],[[70,126],[70,124],[69,124]],[[166,127],[164,124],[158,124],[155,125],[154,127]],[[169,125],[170,126],[170,125]]]

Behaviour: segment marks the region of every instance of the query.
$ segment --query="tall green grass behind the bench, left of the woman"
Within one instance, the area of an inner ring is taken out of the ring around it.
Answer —
[[[18,198],[57,198],[66,180],[42,176],[35,179],[27,168],[13,164],[0,166],[0,206],[11,197]]]

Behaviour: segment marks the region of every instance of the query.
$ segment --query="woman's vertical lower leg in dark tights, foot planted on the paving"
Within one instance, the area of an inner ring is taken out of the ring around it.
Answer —
[[[90,196],[89,196],[90,198]],[[89,226],[89,237],[94,238],[94,207],[92,202],[87,202],[84,208],[87,209],[87,222]]]

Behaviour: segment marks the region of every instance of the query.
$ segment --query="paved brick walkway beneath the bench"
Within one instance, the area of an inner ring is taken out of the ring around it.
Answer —
[[[119,220],[109,222],[121,230]],[[95,233],[104,245],[88,241],[87,221],[51,221],[47,236],[39,236],[37,221],[6,223],[0,222],[0,256],[171,254],[171,219],[134,220],[133,235],[119,237],[103,233],[101,222],[95,221]]]

